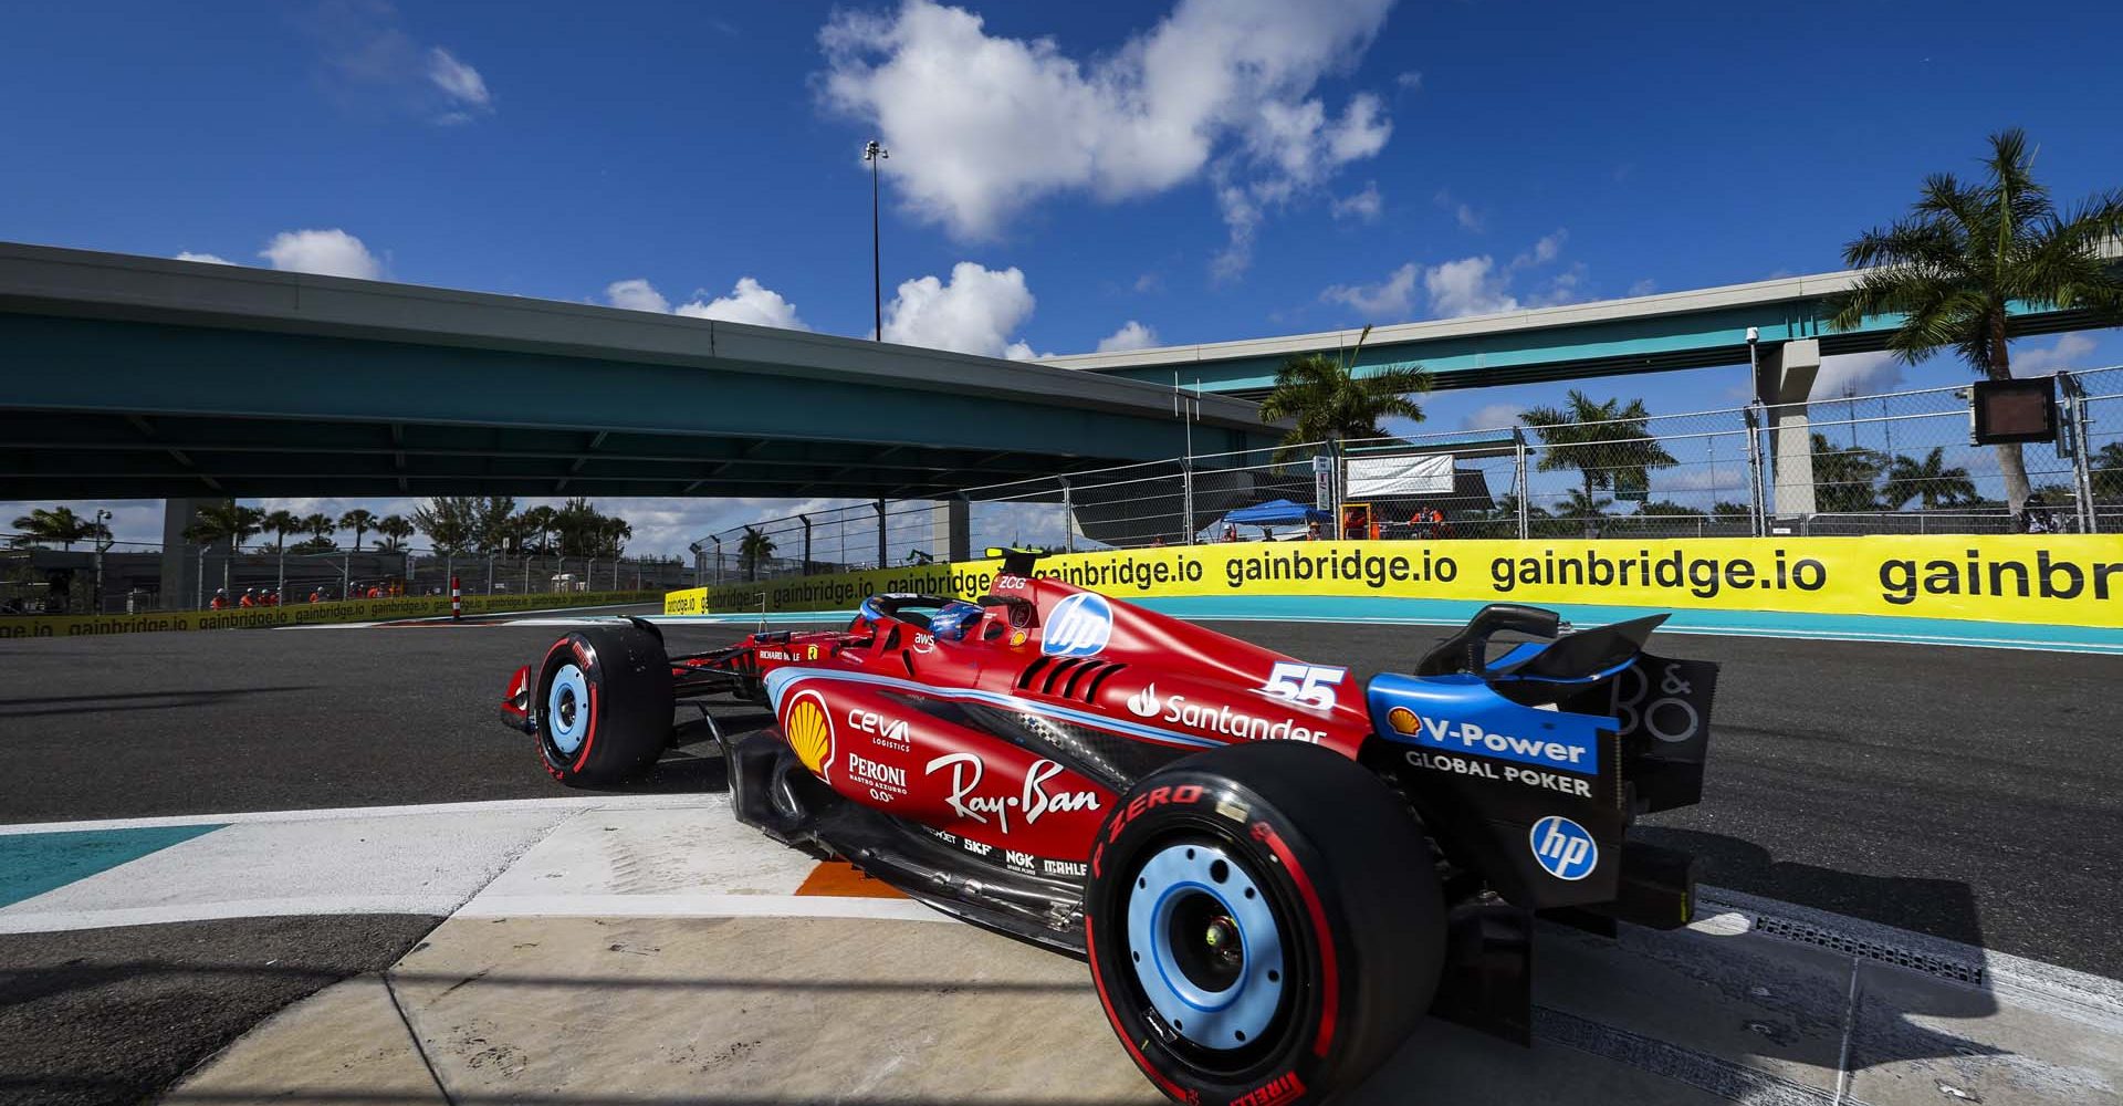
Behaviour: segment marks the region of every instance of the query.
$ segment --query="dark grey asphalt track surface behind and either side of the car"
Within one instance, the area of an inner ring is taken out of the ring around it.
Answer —
[[[1359,677],[1442,630],[1221,622]],[[0,822],[560,794],[495,722],[554,626],[223,630],[0,641]],[[741,628],[671,624],[673,652]],[[1635,832],[1707,881],[2123,977],[2123,660],[1662,635],[1724,664],[1701,807]],[[726,728],[766,724],[720,707]],[[720,785],[675,754],[631,790]],[[732,824],[730,832],[745,832]]]

